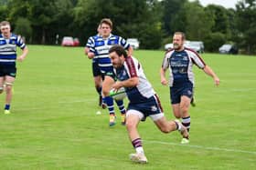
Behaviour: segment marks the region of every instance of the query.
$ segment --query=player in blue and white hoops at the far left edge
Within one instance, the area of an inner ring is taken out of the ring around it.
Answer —
[[[10,114],[11,100],[13,96],[13,85],[16,79],[16,60],[22,62],[27,56],[28,49],[22,41],[21,36],[11,33],[11,25],[7,21],[0,23],[0,94],[5,87],[5,114]],[[16,57],[16,46],[23,53]]]

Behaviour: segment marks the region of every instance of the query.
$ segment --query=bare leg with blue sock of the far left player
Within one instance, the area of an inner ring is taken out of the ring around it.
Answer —
[[[5,76],[5,114],[10,114],[11,101],[13,96],[13,84],[15,81],[15,77],[13,76]]]

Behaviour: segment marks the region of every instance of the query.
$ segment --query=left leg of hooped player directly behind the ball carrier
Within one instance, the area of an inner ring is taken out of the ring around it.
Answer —
[[[102,95],[103,102],[108,106],[109,114],[110,114],[110,126],[115,125],[115,114],[113,108],[113,99],[110,96],[110,90],[112,89],[112,85],[114,84],[114,79],[112,76],[106,75],[104,77],[104,81],[102,83]]]

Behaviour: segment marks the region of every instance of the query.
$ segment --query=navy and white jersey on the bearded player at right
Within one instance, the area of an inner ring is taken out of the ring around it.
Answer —
[[[162,64],[163,69],[169,68],[170,71],[170,86],[180,85],[190,81],[194,85],[194,74],[192,71],[193,65],[197,65],[203,69],[205,62],[192,49],[185,48],[183,51],[177,52],[171,49],[165,54]]]

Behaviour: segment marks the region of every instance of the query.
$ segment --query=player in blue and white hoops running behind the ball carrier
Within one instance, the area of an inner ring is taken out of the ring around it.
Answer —
[[[90,45],[90,51],[88,56],[91,58],[97,58],[98,65],[100,66],[101,75],[104,76],[102,83],[102,97],[103,103],[108,106],[110,121],[109,125],[113,126],[116,123],[116,115],[114,113],[113,99],[110,96],[110,90],[112,88],[111,84],[114,82],[112,79],[112,63],[109,58],[109,49],[112,45],[122,45],[130,55],[133,53],[133,47],[130,46],[123,37],[118,35],[112,35],[112,21],[108,18],[103,18],[101,20],[101,36],[92,39]],[[125,124],[125,113],[126,110],[123,105],[123,100],[116,100],[116,104],[119,107],[122,117],[122,125]]]

